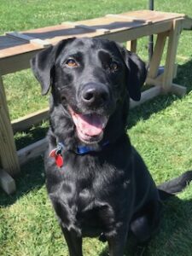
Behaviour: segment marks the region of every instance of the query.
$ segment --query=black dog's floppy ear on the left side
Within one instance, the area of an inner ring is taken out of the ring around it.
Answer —
[[[40,51],[30,61],[32,71],[41,84],[42,95],[46,95],[49,91],[49,87],[52,84],[51,70],[55,65],[55,60],[60,54],[61,50],[66,46],[69,41],[73,41],[74,38],[62,40],[55,46],[50,46],[47,49]]]

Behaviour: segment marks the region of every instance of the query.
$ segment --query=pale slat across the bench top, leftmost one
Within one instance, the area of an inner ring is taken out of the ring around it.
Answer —
[[[42,40],[42,39],[39,39],[39,38],[33,38],[31,36],[22,34],[21,32],[7,32],[6,36],[12,37],[12,38],[20,38],[20,39],[22,39],[26,42],[29,42],[30,44],[35,44],[35,45],[37,44],[38,46],[43,47],[43,48],[48,47],[48,46],[51,45],[46,40]]]

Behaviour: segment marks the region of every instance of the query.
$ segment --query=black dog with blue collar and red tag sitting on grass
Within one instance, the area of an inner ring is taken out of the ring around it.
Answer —
[[[126,135],[146,67],[114,42],[71,38],[36,55],[32,69],[43,95],[51,86],[46,183],[70,256],[82,256],[83,236],[101,236],[111,256],[122,256],[128,231],[148,241],[160,197],[192,178],[185,172],[157,189]]]

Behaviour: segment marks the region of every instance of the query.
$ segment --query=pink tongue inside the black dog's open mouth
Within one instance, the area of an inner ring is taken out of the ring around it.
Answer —
[[[89,136],[96,136],[102,132],[104,127],[104,118],[97,114],[75,114],[76,117],[76,126],[79,128],[84,134]]]

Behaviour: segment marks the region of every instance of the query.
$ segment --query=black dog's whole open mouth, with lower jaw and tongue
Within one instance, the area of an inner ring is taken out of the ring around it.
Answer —
[[[102,140],[108,117],[98,113],[76,113],[72,108],[68,109],[76,126],[77,135],[82,142],[96,143]]]

